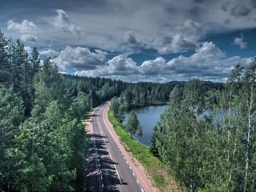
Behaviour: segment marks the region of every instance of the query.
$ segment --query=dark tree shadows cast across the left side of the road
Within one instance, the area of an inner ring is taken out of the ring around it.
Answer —
[[[85,172],[87,176],[84,191],[119,191],[118,185],[128,185],[123,179],[121,179],[120,184],[114,167],[114,165],[118,164],[110,158],[103,139],[106,137],[99,134],[91,134],[88,135],[88,138],[89,145],[86,147],[84,154]],[[101,175],[102,179],[100,177]],[[104,187],[102,187],[102,183]]]

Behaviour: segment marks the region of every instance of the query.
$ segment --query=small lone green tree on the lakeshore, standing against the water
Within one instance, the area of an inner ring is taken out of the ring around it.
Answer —
[[[142,128],[140,126],[140,122],[134,110],[129,112],[129,116],[127,118],[127,123],[125,124],[125,128],[131,135],[137,134],[140,137],[142,136]]]

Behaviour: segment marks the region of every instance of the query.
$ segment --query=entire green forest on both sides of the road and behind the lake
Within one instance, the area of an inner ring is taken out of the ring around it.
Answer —
[[[256,60],[225,84],[123,82],[59,73],[50,58],[0,32],[0,191],[79,191],[85,182],[83,124],[111,99],[124,107],[167,104],[151,153],[187,191],[256,191]],[[136,114],[127,131],[140,133]]]

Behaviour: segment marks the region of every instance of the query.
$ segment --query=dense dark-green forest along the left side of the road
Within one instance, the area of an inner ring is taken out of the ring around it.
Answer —
[[[126,82],[59,74],[0,32],[0,191],[74,191],[83,186],[82,120]]]

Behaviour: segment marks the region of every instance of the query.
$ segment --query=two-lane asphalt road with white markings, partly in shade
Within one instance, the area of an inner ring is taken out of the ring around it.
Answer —
[[[107,104],[99,106],[91,117],[93,134],[86,157],[90,167],[86,191],[144,191],[105,125],[106,107]]]

